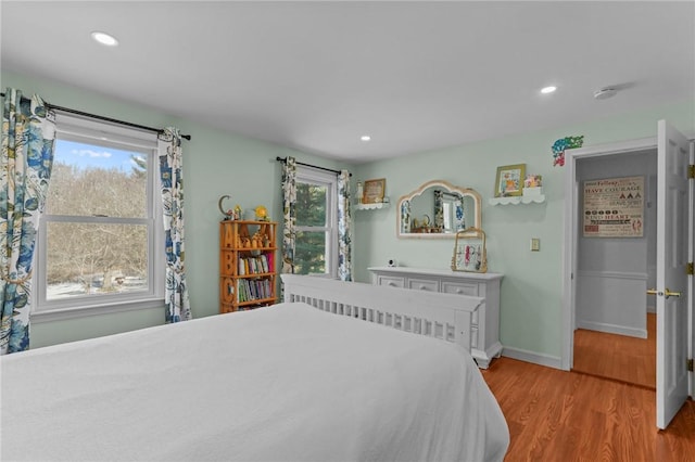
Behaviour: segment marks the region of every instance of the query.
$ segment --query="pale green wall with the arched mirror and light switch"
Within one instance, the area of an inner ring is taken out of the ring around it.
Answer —
[[[439,179],[472,188],[483,197],[482,228],[488,236],[488,269],[504,274],[501,294],[501,342],[505,351],[559,367],[563,344],[563,232],[565,169],[553,167],[551,146],[567,136],[584,136],[584,146],[656,137],[665,118],[681,131],[695,133],[692,101],[626,114],[559,129],[522,133],[361,165],[355,179],[387,178],[392,206],[357,210],[355,279],[369,281],[366,268],[386,266],[390,258],[408,267],[450,267],[453,241],[397,239],[400,196]],[[526,164],[528,174],[543,176],[546,202],[491,206],[497,166]],[[531,238],[541,251],[530,252]]]

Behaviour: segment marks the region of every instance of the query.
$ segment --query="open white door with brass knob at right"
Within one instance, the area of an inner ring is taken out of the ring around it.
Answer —
[[[666,428],[687,398],[687,139],[658,123],[656,425]]]

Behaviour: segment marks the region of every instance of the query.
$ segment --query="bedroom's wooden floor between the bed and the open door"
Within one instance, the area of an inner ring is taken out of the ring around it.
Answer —
[[[695,402],[666,431],[656,394],[509,358],[482,371],[510,433],[505,461],[695,461]]]

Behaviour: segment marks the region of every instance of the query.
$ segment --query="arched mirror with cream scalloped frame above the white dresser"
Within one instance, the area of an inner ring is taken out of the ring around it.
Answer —
[[[467,228],[481,228],[480,194],[443,180],[432,180],[399,200],[399,238],[454,238]]]

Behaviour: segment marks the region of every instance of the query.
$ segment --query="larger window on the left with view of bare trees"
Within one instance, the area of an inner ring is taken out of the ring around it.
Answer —
[[[59,114],[36,252],[37,320],[162,306],[155,159],[155,133]]]

